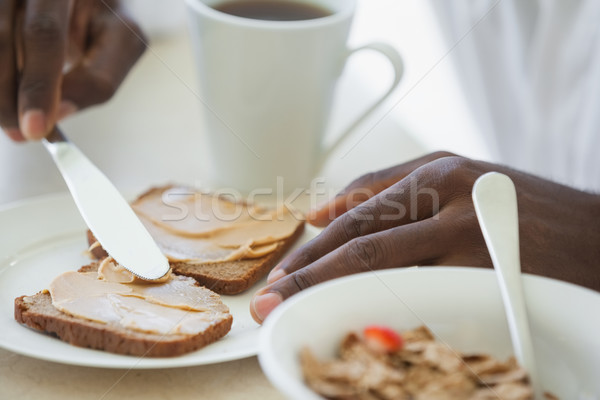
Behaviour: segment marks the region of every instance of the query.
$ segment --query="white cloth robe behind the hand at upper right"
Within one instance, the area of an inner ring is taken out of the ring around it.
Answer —
[[[431,0],[495,158],[600,191],[600,0]]]

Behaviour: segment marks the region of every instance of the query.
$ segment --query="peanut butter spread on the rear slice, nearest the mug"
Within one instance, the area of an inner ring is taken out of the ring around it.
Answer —
[[[170,261],[217,263],[267,255],[302,223],[288,207],[266,210],[174,187],[132,207]]]

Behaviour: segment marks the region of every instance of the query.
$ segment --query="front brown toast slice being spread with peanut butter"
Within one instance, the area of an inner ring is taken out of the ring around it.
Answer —
[[[76,346],[148,357],[197,350],[225,336],[233,322],[220,296],[193,279],[141,281],[110,258],[16,298],[15,319]]]

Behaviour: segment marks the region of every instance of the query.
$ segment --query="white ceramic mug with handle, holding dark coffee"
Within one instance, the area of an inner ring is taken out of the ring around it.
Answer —
[[[213,187],[244,193],[281,182],[285,192],[307,187],[332,150],[400,82],[403,64],[393,47],[348,49],[355,0],[293,0],[331,12],[299,21],[243,18],[212,8],[227,0],[186,1]],[[335,83],[348,57],[363,49],[390,60],[393,82],[325,147]]]

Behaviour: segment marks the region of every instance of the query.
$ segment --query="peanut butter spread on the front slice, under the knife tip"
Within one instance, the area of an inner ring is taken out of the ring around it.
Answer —
[[[170,273],[144,281],[106,258],[97,272],[59,275],[49,291],[54,307],[69,315],[139,332],[195,335],[229,318],[219,295],[195,282]]]

